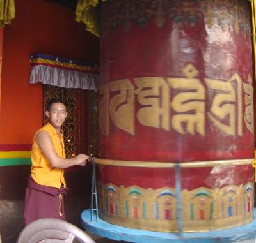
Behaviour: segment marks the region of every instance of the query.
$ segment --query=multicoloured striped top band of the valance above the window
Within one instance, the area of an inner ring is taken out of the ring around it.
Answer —
[[[90,63],[73,61],[66,58],[53,57],[51,55],[33,54],[30,59],[31,66],[50,66],[61,70],[81,71],[83,73],[99,73],[99,68]]]

